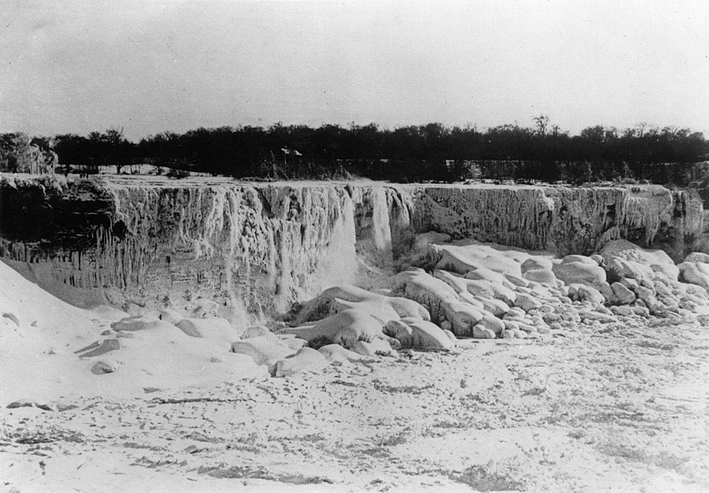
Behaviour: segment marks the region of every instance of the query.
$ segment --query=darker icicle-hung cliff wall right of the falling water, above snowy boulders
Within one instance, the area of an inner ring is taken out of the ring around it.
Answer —
[[[659,185],[620,187],[414,187],[416,231],[453,238],[588,254],[627,238],[683,257],[700,248],[703,209],[696,192]]]

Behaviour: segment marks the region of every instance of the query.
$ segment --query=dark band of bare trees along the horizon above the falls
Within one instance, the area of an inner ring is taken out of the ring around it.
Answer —
[[[571,135],[547,116],[530,127],[496,126],[479,130],[428,123],[389,130],[374,123],[319,128],[281,123],[198,128],[159,133],[131,142],[110,129],[87,136],[50,139],[60,165],[150,163],[173,170],[233,177],[331,178],[359,176],[392,181],[469,178],[568,182],[648,179],[688,182],[696,165],[708,159],[709,142],[688,128],[591,126]],[[90,172],[90,171],[89,171]]]

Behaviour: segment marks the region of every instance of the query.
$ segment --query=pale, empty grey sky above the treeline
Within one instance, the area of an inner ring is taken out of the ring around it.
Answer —
[[[709,138],[709,2],[0,5],[0,133],[440,122]]]

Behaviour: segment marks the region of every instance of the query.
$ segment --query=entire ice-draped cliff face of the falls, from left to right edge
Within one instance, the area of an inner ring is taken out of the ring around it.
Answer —
[[[698,197],[653,186],[6,176],[0,207],[0,256],[46,287],[117,288],[154,304],[205,296],[235,316],[286,311],[333,284],[376,284],[425,231],[561,254],[628,238],[678,257],[703,231]]]

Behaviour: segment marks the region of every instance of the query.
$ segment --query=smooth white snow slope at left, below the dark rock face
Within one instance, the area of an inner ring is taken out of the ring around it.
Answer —
[[[157,316],[79,309],[4,262],[0,279],[2,406],[25,399],[59,409],[79,397],[266,376],[220,341],[190,337]]]

